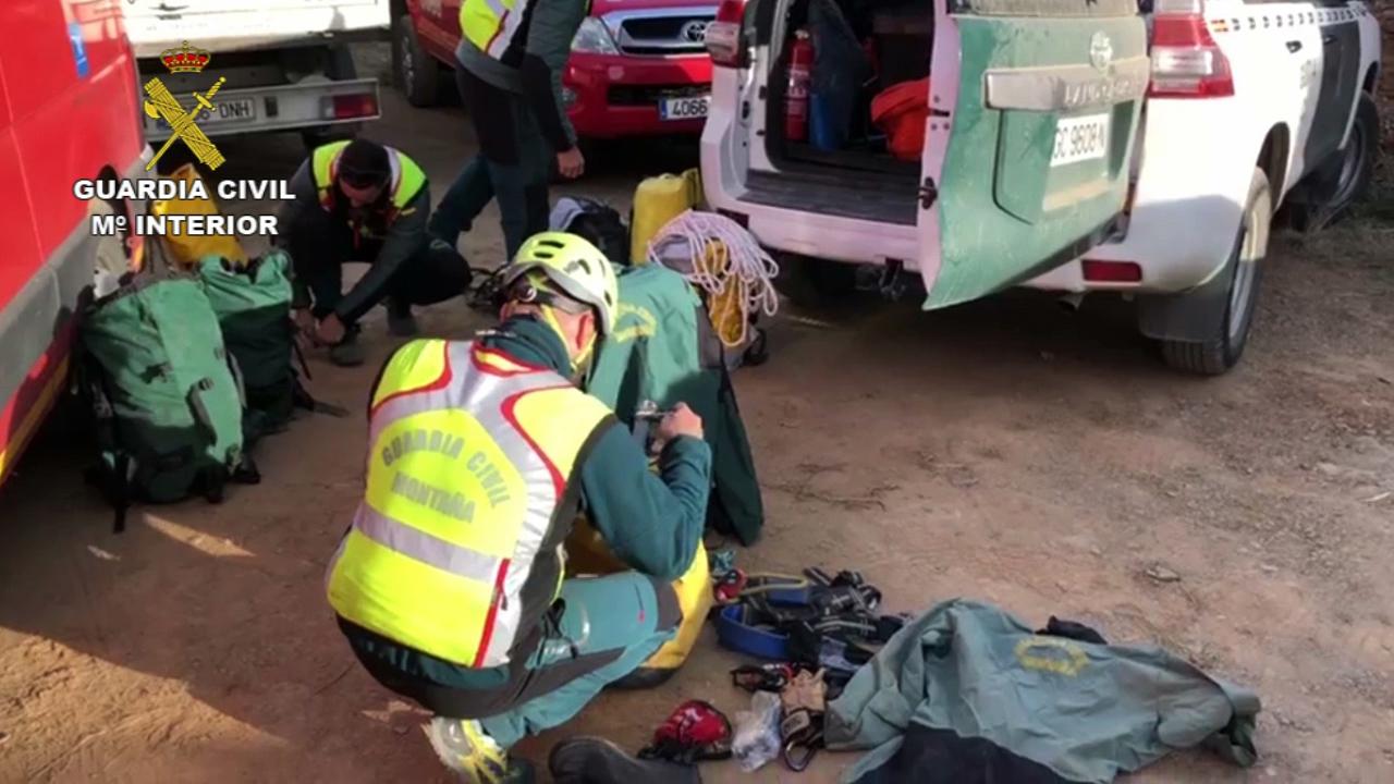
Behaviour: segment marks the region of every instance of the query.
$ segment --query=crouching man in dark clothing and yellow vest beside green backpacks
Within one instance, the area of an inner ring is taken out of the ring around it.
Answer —
[[[431,191],[411,158],[369,140],[316,148],[290,180],[276,244],[296,272],[294,315],[336,364],[364,361],[358,319],[383,303],[393,335],[417,332],[411,306],[463,294],[470,268],[453,246],[427,233]],[[368,272],[347,293],[343,265]]]

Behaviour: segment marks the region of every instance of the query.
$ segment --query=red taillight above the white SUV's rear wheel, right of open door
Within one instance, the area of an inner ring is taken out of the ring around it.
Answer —
[[[1150,98],[1234,95],[1230,60],[1210,36],[1204,10],[1204,0],[1157,0]]]

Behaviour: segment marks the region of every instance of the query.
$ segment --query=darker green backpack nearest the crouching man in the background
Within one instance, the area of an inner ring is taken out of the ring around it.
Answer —
[[[247,388],[248,437],[277,432],[296,407],[296,343],[290,321],[290,257],[272,251],[237,266],[219,255],[198,264],[204,293]]]

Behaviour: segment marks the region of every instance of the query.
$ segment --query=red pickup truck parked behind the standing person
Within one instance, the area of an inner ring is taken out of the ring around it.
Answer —
[[[460,0],[406,0],[406,11],[393,22],[393,71],[408,102],[429,106],[454,66]],[[704,42],[715,18],[717,3],[592,0],[562,75],[576,134],[700,134],[711,102]]]

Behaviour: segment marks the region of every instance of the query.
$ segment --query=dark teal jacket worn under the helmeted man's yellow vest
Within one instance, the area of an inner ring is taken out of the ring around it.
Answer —
[[[484,345],[510,357],[570,375],[570,360],[552,328],[531,318],[513,318]],[[659,474],[625,425],[602,434],[579,467],[587,518],[615,554],[634,569],[675,580],[691,564],[701,543],[711,487],[711,449],[700,438],[680,437],[659,456]],[[429,597],[422,597],[429,601]],[[471,670],[385,640],[347,632],[361,654],[389,661],[414,677],[459,689],[484,689],[507,681],[507,665]]]

